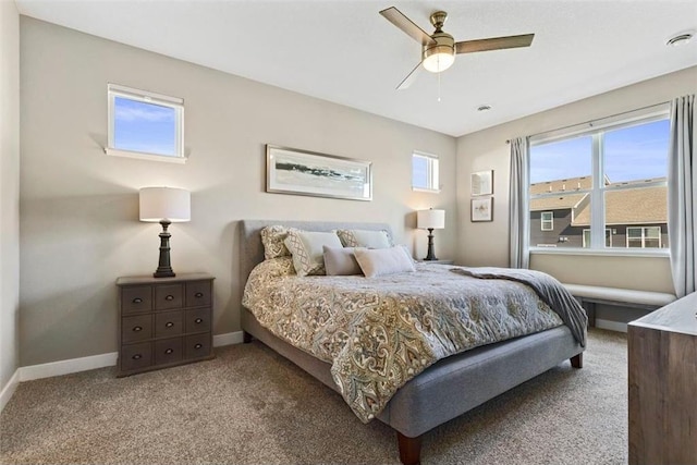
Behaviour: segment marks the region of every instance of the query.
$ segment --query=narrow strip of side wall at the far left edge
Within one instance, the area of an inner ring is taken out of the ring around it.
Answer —
[[[0,1],[0,391],[19,362],[20,13]]]

